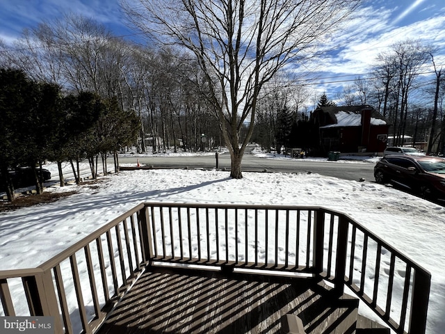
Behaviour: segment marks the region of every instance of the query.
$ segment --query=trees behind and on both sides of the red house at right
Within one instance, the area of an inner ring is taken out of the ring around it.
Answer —
[[[403,145],[403,138],[412,136],[414,145],[422,145],[428,154],[445,155],[444,64],[437,63],[437,52],[419,40],[396,42],[378,54],[366,77],[332,93],[331,100],[310,89],[310,81],[299,86],[282,79],[284,88],[271,86],[264,94],[253,140],[266,150],[316,145],[312,141],[317,136],[309,133],[311,113],[335,102],[373,106],[391,124],[394,145]]]

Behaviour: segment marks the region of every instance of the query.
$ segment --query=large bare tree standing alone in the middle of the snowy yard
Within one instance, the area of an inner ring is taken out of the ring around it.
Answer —
[[[217,113],[232,158],[232,178],[252,135],[257,99],[266,82],[291,61],[314,55],[359,0],[122,1],[131,22],[150,38],[186,47],[197,58],[205,98]],[[241,129],[248,134],[241,141]]]

